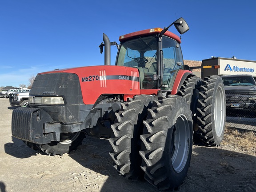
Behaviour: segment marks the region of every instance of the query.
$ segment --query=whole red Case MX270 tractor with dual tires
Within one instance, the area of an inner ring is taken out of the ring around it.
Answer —
[[[183,18],[167,28],[104,34],[105,65],[39,73],[29,106],[12,113],[12,135],[49,155],[77,148],[85,136],[108,138],[114,167],[127,179],[144,176],[160,190],[177,188],[188,172],[193,138],[219,145],[225,92],[219,76],[204,80],[183,63]],[[116,65],[110,46],[117,45]]]

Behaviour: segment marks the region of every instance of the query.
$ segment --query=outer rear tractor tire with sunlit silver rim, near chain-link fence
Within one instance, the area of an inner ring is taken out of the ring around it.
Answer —
[[[207,146],[218,146],[223,140],[226,121],[226,97],[220,76],[204,78],[197,105],[200,140]]]

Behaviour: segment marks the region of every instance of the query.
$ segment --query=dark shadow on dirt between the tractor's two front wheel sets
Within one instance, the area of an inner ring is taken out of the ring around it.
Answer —
[[[69,156],[83,167],[107,176],[102,192],[158,192],[156,188],[145,180],[132,181],[120,176],[113,167],[113,160],[109,155],[111,145],[107,139],[93,137],[84,138],[82,144],[71,152]]]

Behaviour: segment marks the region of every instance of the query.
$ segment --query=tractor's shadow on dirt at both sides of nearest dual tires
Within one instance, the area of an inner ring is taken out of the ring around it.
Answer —
[[[108,140],[86,137],[82,145],[70,154],[76,162],[94,172],[108,176],[101,189],[122,192],[159,191],[147,181],[131,181],[119,176],[109,156]],[[219,147],[194,145],[188,175],[179,192],[256,191],[256,156],[228,151]]]

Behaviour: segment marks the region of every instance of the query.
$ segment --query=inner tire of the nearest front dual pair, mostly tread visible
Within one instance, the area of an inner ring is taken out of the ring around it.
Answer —
[[[152,96],[135,96],[128,98],[116,112],[115,123],[111,125],[114,136],[109,139],[112,150],[109,153],[114,160],[114,168],[130,180],[137,180],[141,173],[140,134],[147,109],[152,105]]]

